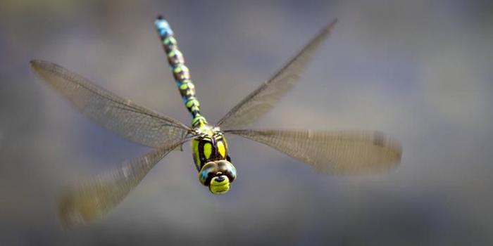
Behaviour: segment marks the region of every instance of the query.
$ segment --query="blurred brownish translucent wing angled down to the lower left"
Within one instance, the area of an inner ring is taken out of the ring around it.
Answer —
[[[58,200],[58,213],[64,226],[85,224],[116,207],[156,163],[184,143],[174,143],[152,150],[118,169],[87,179],[65,190]]]

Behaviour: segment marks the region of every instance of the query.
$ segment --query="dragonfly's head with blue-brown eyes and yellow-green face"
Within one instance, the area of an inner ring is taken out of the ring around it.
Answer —
[[[199,171],[199,181],[213,194],[224,194],[236,179],[236,168],[227,160],[207,162]]]

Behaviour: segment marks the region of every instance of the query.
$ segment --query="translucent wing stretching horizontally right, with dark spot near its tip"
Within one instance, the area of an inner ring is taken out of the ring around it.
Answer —
[[[389,169],[401,161],[398,141],[379,131],[233,130],[327,174],[357,174]]]

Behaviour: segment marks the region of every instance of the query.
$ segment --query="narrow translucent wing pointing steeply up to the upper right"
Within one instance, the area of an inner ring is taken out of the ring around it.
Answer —
[[[328,37],[336,22],[337,20],[334,20],[327,25],[272,78],[246,96],[230,112],[227,112],[216,126],[223,130],[241,129],[265,115],[299,81],[299,75],[320,44]]]

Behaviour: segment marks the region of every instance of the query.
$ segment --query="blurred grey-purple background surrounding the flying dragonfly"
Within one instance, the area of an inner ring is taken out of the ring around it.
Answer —
[[[404,147],[401,165],[324,176],[230,137],[239,176],[227,195],[201,186],[187,147],[102,221],[63,230],[63,186],[149,149],[79,115],[28,61],[188,124],[157,13],[211,123],[339,18],[254,128],[385,131]],[[0,245],[492,245],[492,13],[486,0],[0,1]]]

